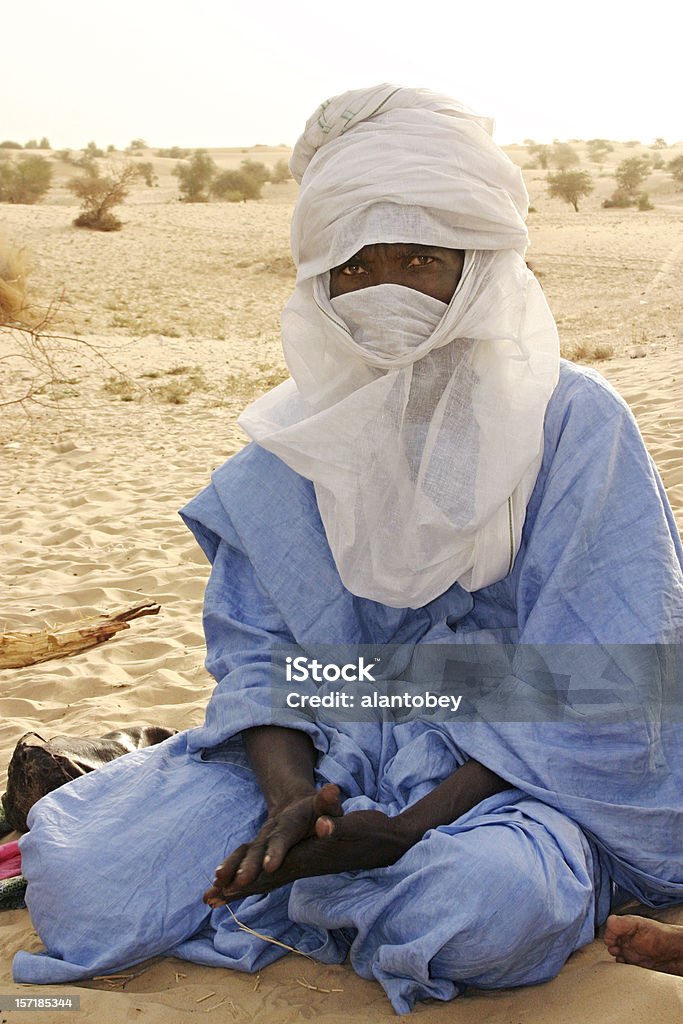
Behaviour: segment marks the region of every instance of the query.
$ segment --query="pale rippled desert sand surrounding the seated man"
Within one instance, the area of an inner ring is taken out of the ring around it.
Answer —
[[[234,166],[245,153],[215,156]],[[266,163],[287,156],[248,155]],[[523,162],[523,151],[512,155]],[[612,165],[624,155],[632,154],[611,155]],[[47,737],[138,723],[184,729],[202,721],[212,688],[201,623],[208,566],[177,509],[244,444],[241,409],[286,375],[278,318],[294,281],[296,186],[266,186],[258,203],[188,206],[177,202],[173,162],[156,165],[159,186],[136,188],[117,233],[72,226],[67,167],[40,205],[0,207],[0,233],[27,248],[32,297],[55,303],[52,331],[60,336],[46,367],[26,338],[0,335],[0,356],[9,356],[0,362],[0,402],[9,402],[0,406],[0,632],[141,600],[161,604],[159,615],[96,649],[0,674],[0,773],[29,730]],[[681,528],[683,193],[657,171],[648,183],[653,210],[603,210],[613,167],[594,170],[596,193],[580,213],[546,197],[541,172],[526,172],[536,208],[529,256],[563,351],[581,361],[601,346],[611,352],[596,368],[631,404]],[[19,401],[31,388],[33,399]],[[0,792],[3,781],[0,774]],[[683,908],[657,916],[683,923]],[[348,965],[295,954],[256,978],[171,958],[109,981],[31,988],[11,981],[19,948],[41,943],[26,910],[4,911],[0,993],[79,994],[83,1020],[341,1024],[394,1016],[379,985]],[[617,965],[596,940],[549,984],[471,992],[415,1014],[462,1024],[674,1024],[682,1009],[683,980]]]

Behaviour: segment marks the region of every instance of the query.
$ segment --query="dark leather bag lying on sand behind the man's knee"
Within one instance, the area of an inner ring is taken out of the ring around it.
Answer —
[[[45,794],[101,768],[122,754],[161,743],[176,732],[177,729],[157,725],[133,726],[99,738],[84,739],[75,736],[43,739],[37,732],[27,732],[16,744],[7,768],[7,792],[2,797],[5,821],[0,822],[0,836],[28,831],[27,815]]]

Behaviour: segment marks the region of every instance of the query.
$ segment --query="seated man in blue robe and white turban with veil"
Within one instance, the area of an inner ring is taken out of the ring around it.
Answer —
[[[559,358],[520,171],[486,119],[391,86],[324,103],[292,169],[292,379],[183,510],[212,562],[205,723],[36,805],[47,948],[17,981],[283,955],[229,902],[404,1013],[552,978],[620,898],[683,899],[683,552],[628,409]],[[319,645],[370,645],[389,682],[446,649],[481,700],[292,710],[279,657]]]

